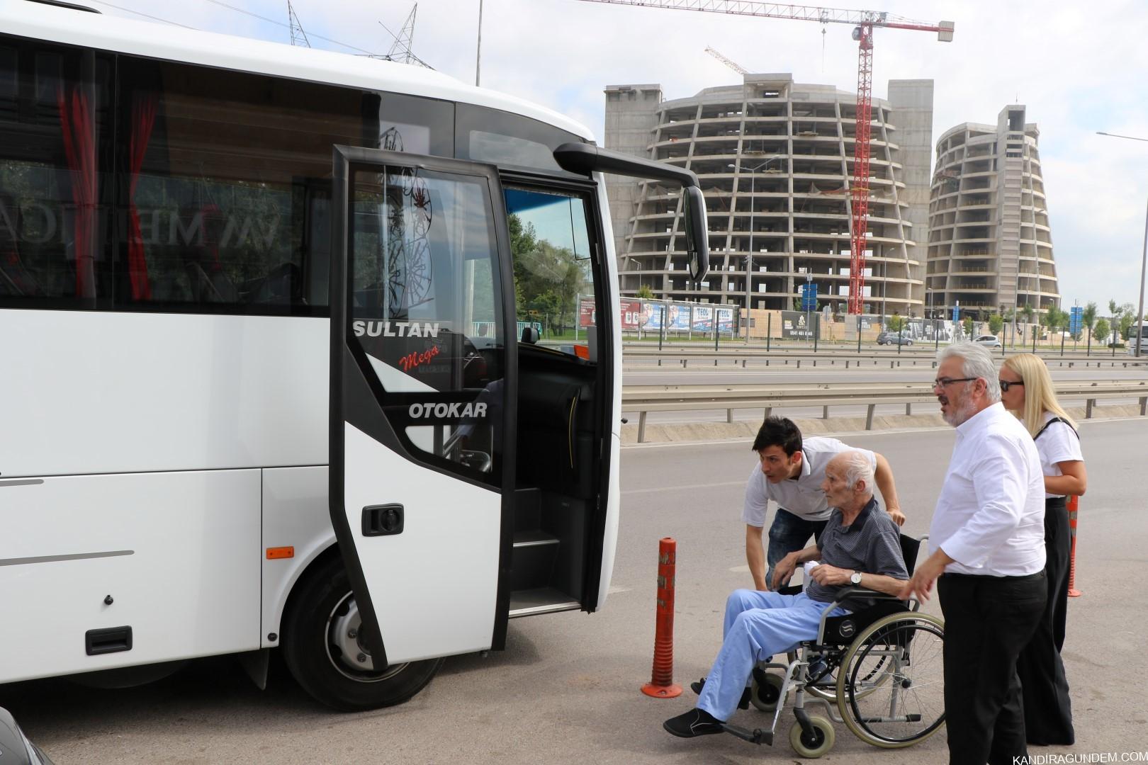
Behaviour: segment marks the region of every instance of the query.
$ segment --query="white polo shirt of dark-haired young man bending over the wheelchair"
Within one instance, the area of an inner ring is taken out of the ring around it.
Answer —
[[[877,470],[877,455],[866,448],[856,448],[836,438],[810,436],[801,439],[801,475],[781,483],[769,483],[761,471],[761,462],[753,466],[750,481],[745,485],[745,505],[742,520],[751,526],[766,525],[769,500],[806,521],[825,521],[830,508],[821,484],[825,481],[825,466],[841,452],[861,452],[869,458],[869,465]]]

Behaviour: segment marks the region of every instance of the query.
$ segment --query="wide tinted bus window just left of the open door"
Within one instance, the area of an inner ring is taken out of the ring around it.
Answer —
[[[121,58],[121,307],[321,314],[358,91]]]

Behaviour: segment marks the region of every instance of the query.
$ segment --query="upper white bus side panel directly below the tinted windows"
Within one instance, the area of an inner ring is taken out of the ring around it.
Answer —
[[[327,462],[325,319],[0,311],[3,477]]]

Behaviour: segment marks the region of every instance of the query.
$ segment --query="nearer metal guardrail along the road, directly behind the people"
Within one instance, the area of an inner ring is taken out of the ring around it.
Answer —
[[[1084,399],[1085,419],[1099,399],[1137,398],[1141,416],[1148,412],[1148,381],[1057,381],[1062,399]],[[914,404],[936,403],[932,388],[922,383],[775,383],[747,385],[627,385],[622,388],[622,412],[638,413],[638,443],[645,442],[646,414],[650,412],[697,412],[726,409],[726,422],[734,421],[734,409],[763,409],[821,406],[829,417],[830,406],[867,406],[866,430],[872,430],[878,404],[905,404],[912,414]]]

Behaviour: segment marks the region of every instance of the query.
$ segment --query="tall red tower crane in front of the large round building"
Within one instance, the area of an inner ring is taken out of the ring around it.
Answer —
[[[850,10],[789,6],[748,0],[582,0],[613,6],[644,6],[677,10],[701,10],[736,16],[793,18],[821,24],[853,24],[853,39],[858,41],[858,108],[856,138],[853,141],[853,185],[850,187],[852,226],[850,228],[850,313],[861,313],[864,305],[864,249],[869,229],[869,139],[872,117],[872,30],[910,29],[937,32],[937,39],[953,39],[953,22],[928,24],[893,16],[883,10]]]

